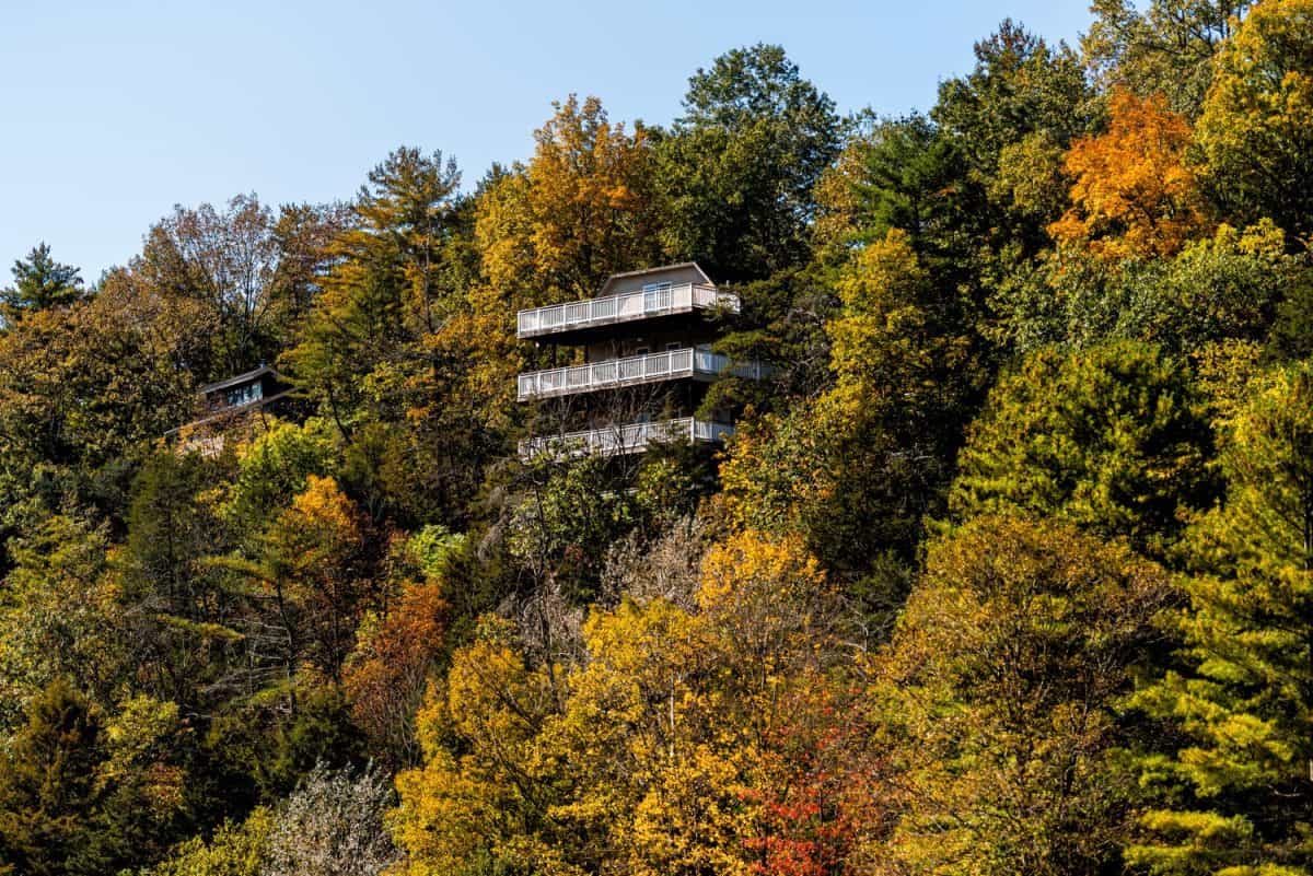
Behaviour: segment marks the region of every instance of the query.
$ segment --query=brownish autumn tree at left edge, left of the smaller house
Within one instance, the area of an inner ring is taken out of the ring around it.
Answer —
[[[190,418],[204,321],[110,274],[91,299],[29,312],[0,334],[0,528],[66,501],[121,517],[130,460]],[[200,355],[204,358],[204,355]]]

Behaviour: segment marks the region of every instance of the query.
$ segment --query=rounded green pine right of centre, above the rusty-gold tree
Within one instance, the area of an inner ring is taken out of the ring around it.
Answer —
[[[972,425],[949,511],[1054,515],[1161,556],[1215,496],[1211,454],[1188,372],[1157,348],[1044,349]]]

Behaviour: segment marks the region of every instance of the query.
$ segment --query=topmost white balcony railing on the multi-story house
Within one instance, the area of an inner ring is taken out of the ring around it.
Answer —
[[[701,283],[680,283],[663,289],[624,292],[607,298],[590,298],[569,304],[551,304],[532,311],[520,311],[516,320],[516,333],[520,337],[537,337],[553,332],[628,323],[630,320],[683,313],[692,309],[723,307],[731,313],[739,312],[738,295],[717,291],[714,286]]]

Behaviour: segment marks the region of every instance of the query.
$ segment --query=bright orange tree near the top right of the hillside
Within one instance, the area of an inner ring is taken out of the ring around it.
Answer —
[[[1212,227],[1186,161],[1190,122],[1161,96],[1124,90],[1112,93],[1109,113],[1106,132],[1067,151],[1071,206],[1049,233],[1113,260],[1175,254]]]

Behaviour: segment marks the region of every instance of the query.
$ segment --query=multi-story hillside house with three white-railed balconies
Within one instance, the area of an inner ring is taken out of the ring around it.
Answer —
[[[712,342],[739,299],[716,289],[693,262],[614,274],[596,298],[520,311],[517,336],[582,348],[583,363],[519,376],[520,401],[558,400],[550,435],[520,445],[521,456],[550,452],[642,452],[656,441],[718,442],[733,412],[699,409],[708,386],[733,371]]]

